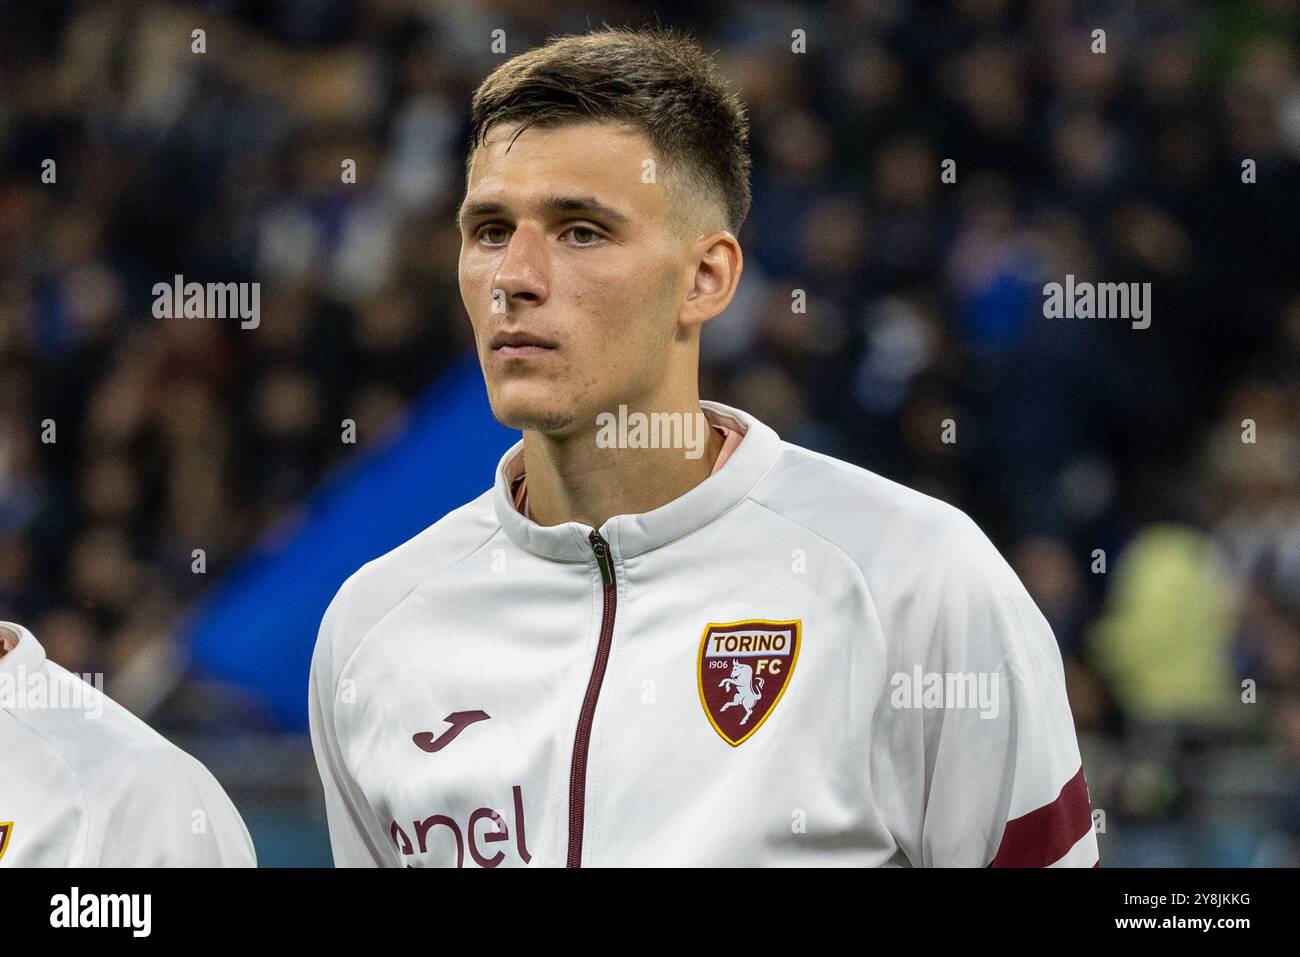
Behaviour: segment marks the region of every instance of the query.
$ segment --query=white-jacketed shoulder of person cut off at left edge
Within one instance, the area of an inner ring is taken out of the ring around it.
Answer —
[[[254,867],[203,765],[0,622],[0,867]]]

